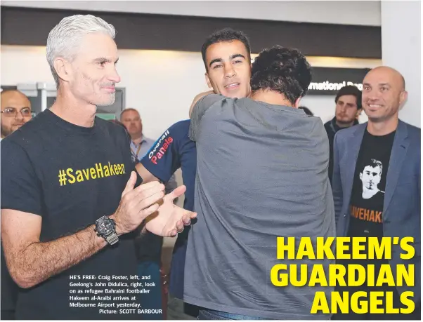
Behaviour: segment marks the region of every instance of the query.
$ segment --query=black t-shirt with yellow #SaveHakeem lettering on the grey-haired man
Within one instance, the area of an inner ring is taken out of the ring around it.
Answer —
[[[125,130],[112,122],[96,118],[93,127],[84,128],[60,119],[50,110],[41,112],[1,141],[1,208],[41,216],[41,242],[88,227],[99,217],[115,213],[119,206],[134,170],[129,143]],[[134,274],[134,234],[126,234],[119,237],[115,246],[105,246],[96,255],[43,283],[21,289],[16,318],[138,318],[119,314],[117,308],[117,303],[138,303],[137,300],[113,300],[117,295],[131,299],[136,293],[105,294],[105,289],[131,289],[129,275]],[[84,279],[86,275],[93,275],[96,280]],[[99,280],[100,275],[110,276],[110,281]],[[112,275],[128,280],[114,280]],[[98,282],[106,286],[96,287]],[[109,283],[127,283],[128,287]],[[91,293],[100,289],[103,293]],[[73,290],[76,293],[71,293]],[[108,295],[110,300],[98,299]],[[98,307],[100,302],[115,305]],[[85,305],[89,303],[96,307]],[[118,314],[101,314],[100,309],[117,310]]]

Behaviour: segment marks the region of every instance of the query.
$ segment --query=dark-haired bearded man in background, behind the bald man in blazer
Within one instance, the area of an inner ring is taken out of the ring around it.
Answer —
[[[329,138],[329,180],[332,183],[333,172],[333,140],[335,134],[343,129],[358,124],[361,112],[361,91],[353,85],[341,88],[335,98],[335,116],[325,123],[327,137]]]

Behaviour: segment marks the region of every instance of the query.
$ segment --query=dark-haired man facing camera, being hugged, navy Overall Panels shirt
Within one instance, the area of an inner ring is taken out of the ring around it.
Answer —
[[[220,93],[229,98],[245,98],[249,95],[251,55],[247,36],[230,28],[209,35],[202,45],[202,60],[209,93]],[[188,137],[190,120],[179,121],[164,131],[136,166],[143,182],[165,182],[178,169],[182,170],[183,184],[187,190],[183,208],[193,210],[195,175],[197,173],[197,150],[195,142]],[[178,235],[171,260],[167,318],[191,320],[198,315],[197,307],[183,302],[184,271],[188,232]]]

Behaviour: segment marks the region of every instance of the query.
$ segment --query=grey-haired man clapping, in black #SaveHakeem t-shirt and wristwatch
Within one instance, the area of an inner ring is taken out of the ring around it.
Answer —
[[[56,102],[1,142],[1,240],[22,288],[17,319],[138,318],[149,290],[136,275],[134,230],[176,236],[195,217],[172,203],[185,187],[164,196],[159,182],[136,185],[126,131],[95,116],[120,81],[114,38],[93,15],[61,20],[47,39]]]

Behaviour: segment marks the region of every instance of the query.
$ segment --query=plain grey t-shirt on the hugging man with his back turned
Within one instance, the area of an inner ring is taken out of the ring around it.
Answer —
[[[316,291],[271,283],[278,237],[335,236],[323,123],[302,109],[207,95],[191,116],[197,146],[194,210],[184,301],[264,319],[329,319],[311,314]],[[315,245],[314,245],[315,246]],[[315,248],[314,248],[315,249]],[[282,271],[281,271],[282,272]]]

